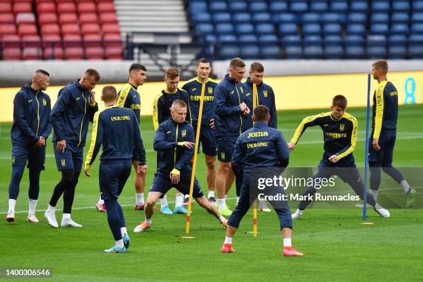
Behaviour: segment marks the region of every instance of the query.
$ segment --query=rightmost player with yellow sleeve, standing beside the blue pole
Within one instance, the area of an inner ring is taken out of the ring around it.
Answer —
[[[380,185],[380,168],[398,182],[406,194],[406,207],[415,203],[415,189],[411,189],[402,173],[392,165],[395,139],[397,138],[398,92],[388,82],[388,62],[379,60],[372,65],[372,75],[379,85],[373,95],[372,133],[368,140],[368,165],[370,167],[370,193],[377,198]]]

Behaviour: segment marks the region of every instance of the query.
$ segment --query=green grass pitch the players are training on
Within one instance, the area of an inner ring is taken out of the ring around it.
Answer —
[[[281,111],[279,129],[289,140],[306,115],[317,110]],[[364,167],[365,109],[349,109],[359,120],[355,150],[358,167]],[[394,164],[397,167],[423,167],[423,105],[401,106]],[[381,218],[372,210],[361,225],[361,209],[308,209],[305,217],[294,221],[293,244],[304,252],[301,258],[285,258],[279,220],[274,212],[259,213],[259,234],[253,238],[252,211],[241,222],[234,238],[235,254],[220,254],[225,229],[217,220],[193,205],[191,236],[184,240],[185,216],[156,214],[148,232],[134,234],[133,227],[144,220],[144,213],[133,210],[135,200],[133,173],[120,198],[131,236],[127,254],[104,254],[113,245],[106,215],[94,208],[98,199],[98,164],[92,178],[79,178],[73,218],[84,225],[80,229],[48,227],[44,209],[60,174],[48,140],[46,171],[41,173],[41,191],[37,209],[39,224],[26,222],[28,210],[28,171],[23,176],[17,201],[16,220],[6,223],[10,181],[10,123],[0,124],[0,265],[5,268],[49,268],[53,278],[37,281],[422,281],[423,210],[391,209],[391,218]],[[91,129],[90,129],[91,130]],[[151,117],[142,117],[142,137],[147,149],[149,171],[147,189],[156,169]],[[87,143],[91,138],[88,133]],[[316,167],[322,153],[322,133],[308,129],[290,158],[290,167]],[[86,151],[88,147],[85,147]],[[198,158],[196,176],[203,189],[204,156]],[[421,189],[417,187],[417,198]],[[234,206],[235,191],[228,201]],[[384,194],[381,187],[379,194]],[[404,194],[398,194],[403,197]],[[174,191],[168,196],[174,200]],[[404,198],[405,200],[405,198]],[[57,209],[62,208],[62,199]],[[173,208],[171,203],[171,208]],[[61,212],[57,211],[57,220]],[[420,265],[420,267],[418,266]],[[2,270],[4,272],[4,270]],[[14,281],[23,281],[15,279]]]

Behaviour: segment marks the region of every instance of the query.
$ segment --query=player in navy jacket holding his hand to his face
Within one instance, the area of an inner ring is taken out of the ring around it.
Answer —
[[[53,149],[55,151],[57,170],[62,179],[57,183],[50,205],[44,217],[48,225],[58,227],[55,207],[63,194],[63,217],[61,226],[82,227],[71,219],[75,187],[81,173],[86,133],[89,122],[93,122],[98,111],[93,89],[100,81],[100,74],[88,68],[81,79],[75,80],[59,91],[55,106],[51,111],[53,125]]]

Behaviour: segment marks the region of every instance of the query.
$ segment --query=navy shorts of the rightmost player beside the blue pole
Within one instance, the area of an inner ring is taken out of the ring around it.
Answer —
[[[396,139],[397,133],[395,131],[385,133],[381,132],[379,135],[380,150],[375,151],[372,146],[373,138],[370,138],[368,140],[368,161],[376,162],[381,167],[391,167]]]

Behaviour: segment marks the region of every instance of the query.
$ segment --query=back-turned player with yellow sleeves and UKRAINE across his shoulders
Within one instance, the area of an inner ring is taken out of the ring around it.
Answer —
[[[138,118],[130,109],[116,106],[117,97],[118,93],[113,86],[103,88],[102,101],[106,109],[94,115],[93,135],[84,167],[85,175],[91,176],[88,171],[100,147],[103,147],[100,157],[100,192],[106,205],[109,227],[116,243],[104,252],[126,252],[129,247],[130,240],[118,198],[131,174],[134,153],[137,156],[138,171],[140,173],[147,171]]]

